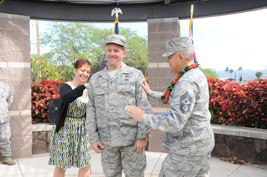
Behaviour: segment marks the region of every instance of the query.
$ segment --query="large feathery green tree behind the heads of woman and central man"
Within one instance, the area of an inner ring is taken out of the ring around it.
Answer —
[[[105,63],[106,38],[113,29],[101,29],[90,23],[51,22],[49,32],[41,34],[41,45],[49,45],[51,51],[44,56],[53,61],[62,73],[62,79],[73,79],[73,65],[78,58],[88,58],[92,63],[91,75],[103,69]],[[147,75],[147,40],[136,31],[120,28],[120,35],[127,39],[124,63]]]

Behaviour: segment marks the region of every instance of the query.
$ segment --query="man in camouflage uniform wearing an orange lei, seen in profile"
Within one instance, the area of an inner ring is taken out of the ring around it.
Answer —
[[[170,112],[161,115],[144,113],[134,106],[125,107],[126,113],[137,122],[164,131],[162,148],[169,151],[162,163],[159,177],[209,176],[209,158],[214,147],[210,125],[209,91],[205,75],[192,64],[193,46],[190,38],[176,38],[167,42],[167,63],[172,72],[184,72],[170,94]],[[151,97],[160,98],[161,92],[142,85]]]

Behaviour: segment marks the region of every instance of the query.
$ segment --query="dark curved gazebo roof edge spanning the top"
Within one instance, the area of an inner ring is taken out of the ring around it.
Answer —
[[[266,0],[5,0],[0,13],[30,16],[31,19],[110,22],[112,9],[120,8],[119,21],[194,18],[267,8]]]

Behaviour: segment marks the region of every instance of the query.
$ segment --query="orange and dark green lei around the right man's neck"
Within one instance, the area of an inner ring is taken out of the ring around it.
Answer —
[[[174,79],[174,81],[172,81],[170,83],[170,86],[168,86],[167,90],[165,91],[165,93],[161,96],[161,100],[163,100],[163,103],[164,104],[167,104],[169,99],[170,99],[170,93],[171,91],[173,90],[175,84],[178,82],[178,80],[183,76],[183,74],[186,72],[186,71],[189,71],[190,69],[192,68],[195,68],[195,67],[198,67],[198,62],[195,61],[193,64],[190,64],[190,65],[186,65],[184,66],[185,68],[183,68],[183,70],[179,71],[176,79]]]

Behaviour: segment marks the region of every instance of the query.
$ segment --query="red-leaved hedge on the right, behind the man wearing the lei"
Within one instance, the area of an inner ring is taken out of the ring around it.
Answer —
[[[207,79],[211,123],[267,129],[267,79],[240,85]]]

